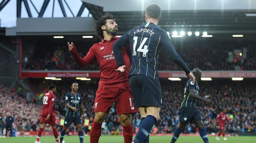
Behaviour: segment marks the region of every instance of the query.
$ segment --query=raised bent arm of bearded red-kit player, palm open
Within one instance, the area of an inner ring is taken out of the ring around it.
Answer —
[[[89,52],[87,53],[87,55],[84,58],[82,58],[78,54],[78,52],[76,50],[76,46],[74,45],[73,42],[71,42],[71,44],[68,42],[67,46],[69,48],[69,52],[71,52],[73,54],[74,60],[76,61],[78,66],[80,66],[81,68],[87,66],[88,64],[93,63],[93,61],[95,61],[95,59],[96,59],[93,47],[91,47]]]

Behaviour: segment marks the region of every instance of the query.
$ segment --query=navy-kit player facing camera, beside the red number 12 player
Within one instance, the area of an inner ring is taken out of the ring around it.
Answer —
[[[63,138],[65,132],[71,123],[78,129],[78,136],[80,143],[84,143],[84,135],[82,128],[82,121],[84,120],[84,109],[82,105],[82,96],[77,93],[78,84],[74,82],[71,86],[72,91],[66,94],[67,112],[64,120],[64,126],[60,134],[60,143],[64,143]]]

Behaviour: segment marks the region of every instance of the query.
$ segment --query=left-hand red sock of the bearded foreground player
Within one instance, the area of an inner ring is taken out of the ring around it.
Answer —
[[[93,125],[90,132],[90,143],[98,143],[101,135],[102,123],[93,121]]]

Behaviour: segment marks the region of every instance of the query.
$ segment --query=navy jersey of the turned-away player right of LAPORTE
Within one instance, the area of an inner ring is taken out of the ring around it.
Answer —
[[[197,99],[192,98],[190,96],[189,89],[195,89],[195,94],[199,95],[199,86],[197,81],[195,81],[194,84],[192,84],[191,80],[187,80],[186,86],[185,86],[185,91],[184,91],[184,99],[182,101],[182,105],[180,105],[180,108],[182,107],[192,107],[192,108],[197,108],[196,107],[196,102]]]

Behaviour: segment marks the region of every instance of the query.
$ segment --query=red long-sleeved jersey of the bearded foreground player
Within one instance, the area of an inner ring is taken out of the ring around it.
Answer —
[[[130,71],[130,58],[129,58],[129,45],[123,47],[122,58],[123,64],[126,66],[124,73],[116,72],[118,64],[114,59],[113,44],[118,40],[115,36],[111,40],[103,40],[100,43],[94,44],[87,55],[81,58],[78,54],[76,47],[73,48],[71,53],[74,60],[80,67],[85,67],[88,64],[98,61],[100,66],[100,82],[99,88],[130,88],[129,86],[129,71]]]

